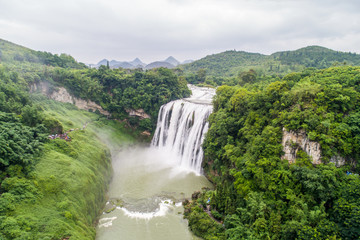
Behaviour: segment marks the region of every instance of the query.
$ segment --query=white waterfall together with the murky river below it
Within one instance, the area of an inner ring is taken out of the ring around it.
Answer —
[[[109,213],[97,240],[197,239],[183,219],[184,198],[212,187],[201,175],[201,143],[208,129],[214,90],[190,86],[192,96],[162,106],[151,147],[113,155]]]

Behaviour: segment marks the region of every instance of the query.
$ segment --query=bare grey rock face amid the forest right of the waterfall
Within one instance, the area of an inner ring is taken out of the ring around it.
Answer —
[[[286,131],[286,129],[283,128],[282,145],[285,153],[282,159],[287,159],[290,163],[295,163],[296,153],[300,149],[311,157],[313,164],[321,163],[320,144],[315,141],[310,141],[305,130],[293,132]]]

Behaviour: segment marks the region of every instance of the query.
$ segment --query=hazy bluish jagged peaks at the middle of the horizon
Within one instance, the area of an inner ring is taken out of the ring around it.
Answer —
[[[192,60],[186,60],[184,63],[191,63]],[[175,68],[176,66],[180,65],[181,63],[176,60],[174,57],[170,56],[167,59],[163,60],[163,61],[155,61],[149,64],[146,64],[144,62],[142,62],[139,58],[135,58],[133,61],[129,61],[129,62],[120,62],[120,61],[116,61],[116,60],[107,60],[107,59],[103,59],[100,62],[98,62],[97,64],[90,64],[90,67],[92,68],[99,68],[101,65],[106,66],[109,63],[109,67],[110,68],[124,68],[124,69],[135,69],[135,68],[142,68],[142,69],[153,69],[153,68],[159,68],[159,67],[164,67],[164,68]]]

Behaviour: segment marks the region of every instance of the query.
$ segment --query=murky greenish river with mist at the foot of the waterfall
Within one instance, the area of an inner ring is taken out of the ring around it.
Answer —
[[[96,239],[196,239],[183,219],[181,201],[212,186],[204,176],[172,166],[169,157],[153,148],[114,157],[108,195],[122,204],[101,216]]]

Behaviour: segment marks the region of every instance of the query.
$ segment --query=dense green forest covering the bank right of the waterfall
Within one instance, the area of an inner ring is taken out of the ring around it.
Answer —
[[[188,203],[191,229],[205,239],[358,239],[359,83],[359,67],[334,67],[218,87],[203,146],[216,189]],[[301,148],[295,163],[283,159],[284,130],[320,143],[322,163]]]

